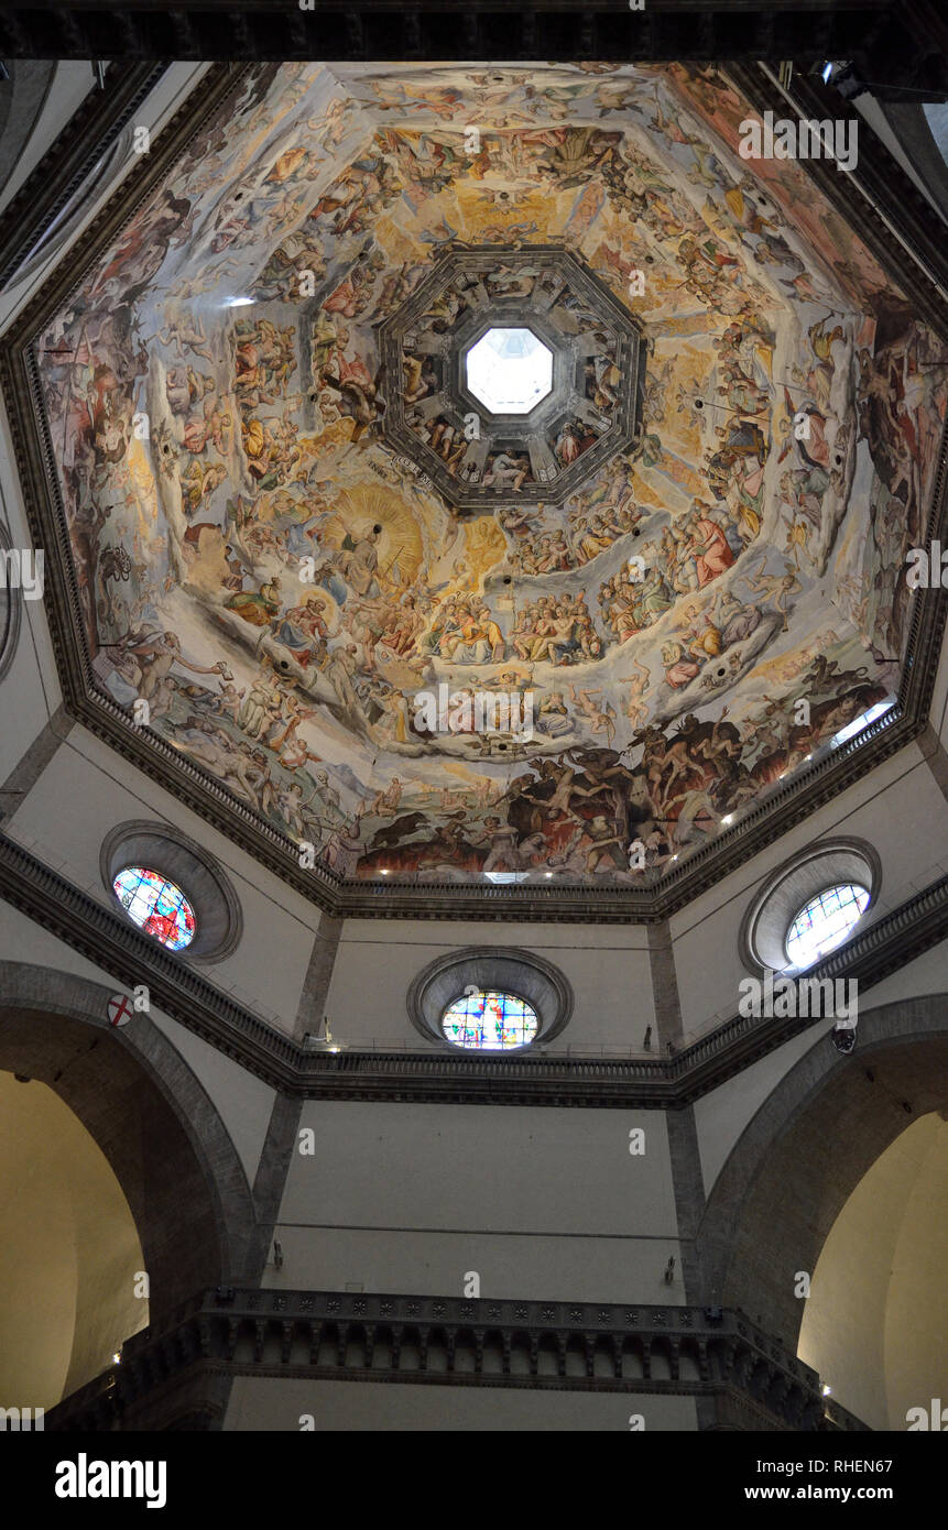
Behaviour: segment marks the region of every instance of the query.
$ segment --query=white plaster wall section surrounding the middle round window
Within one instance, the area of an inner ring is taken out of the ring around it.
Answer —
[[[574,993],[573,1019],[550,1054],[642,1050],[654,1025],[648,936],[636,924],[513,924],[426,920],[346,920],[326,1013],[332,1033],[357,1045],[423,1050],[406,994],[438,956],[476,946],[513,946],[559,967]]]

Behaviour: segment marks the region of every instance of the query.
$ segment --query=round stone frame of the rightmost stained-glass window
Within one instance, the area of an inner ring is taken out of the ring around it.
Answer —
[[[868,890],[868,903],[861,915],[865,920],[882,887],[882,861],[868,840],[821,840],[778,866],[760,887],[741,923],[738,952],[747,972],[809,972],[810,968],[795,967],[787,956],[790,926],[807,903],[842,883],[855,883]],[[852,939],[852,933],[847,939]],[[844,946],[845,941],[841,941],[836,950]],[[827,952],[830,955],[833,953]],[[818,956],[812,965],[825,959]]]

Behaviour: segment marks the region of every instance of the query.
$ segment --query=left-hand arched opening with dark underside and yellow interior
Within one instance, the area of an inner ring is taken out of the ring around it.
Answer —
[[[115,1030],[107,988],[21,962],[0,962],[0,1391],[9,1363],[29,1383],[17,1406],[51,1408],[149,1322],[253,1278],[254,1216],[211,1100],[149,1014]],[[18,1258],[46,1282],[25,1296]]]

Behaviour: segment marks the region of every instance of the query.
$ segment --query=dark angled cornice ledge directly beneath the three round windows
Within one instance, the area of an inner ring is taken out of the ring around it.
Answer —
[[[807,1017],[735,1016],[680,1053],[655,1059],[487,1057],[443,1050],[312,1053],[3,834],[0,897],[113,979],[129,988],[145,984],[155,1008],[248,1073],[303,1099],[675,1109],[821,1024]],[[807,978],[855,978],[865,991],[946,933],[948,877],[942,877],[839,947]]]

